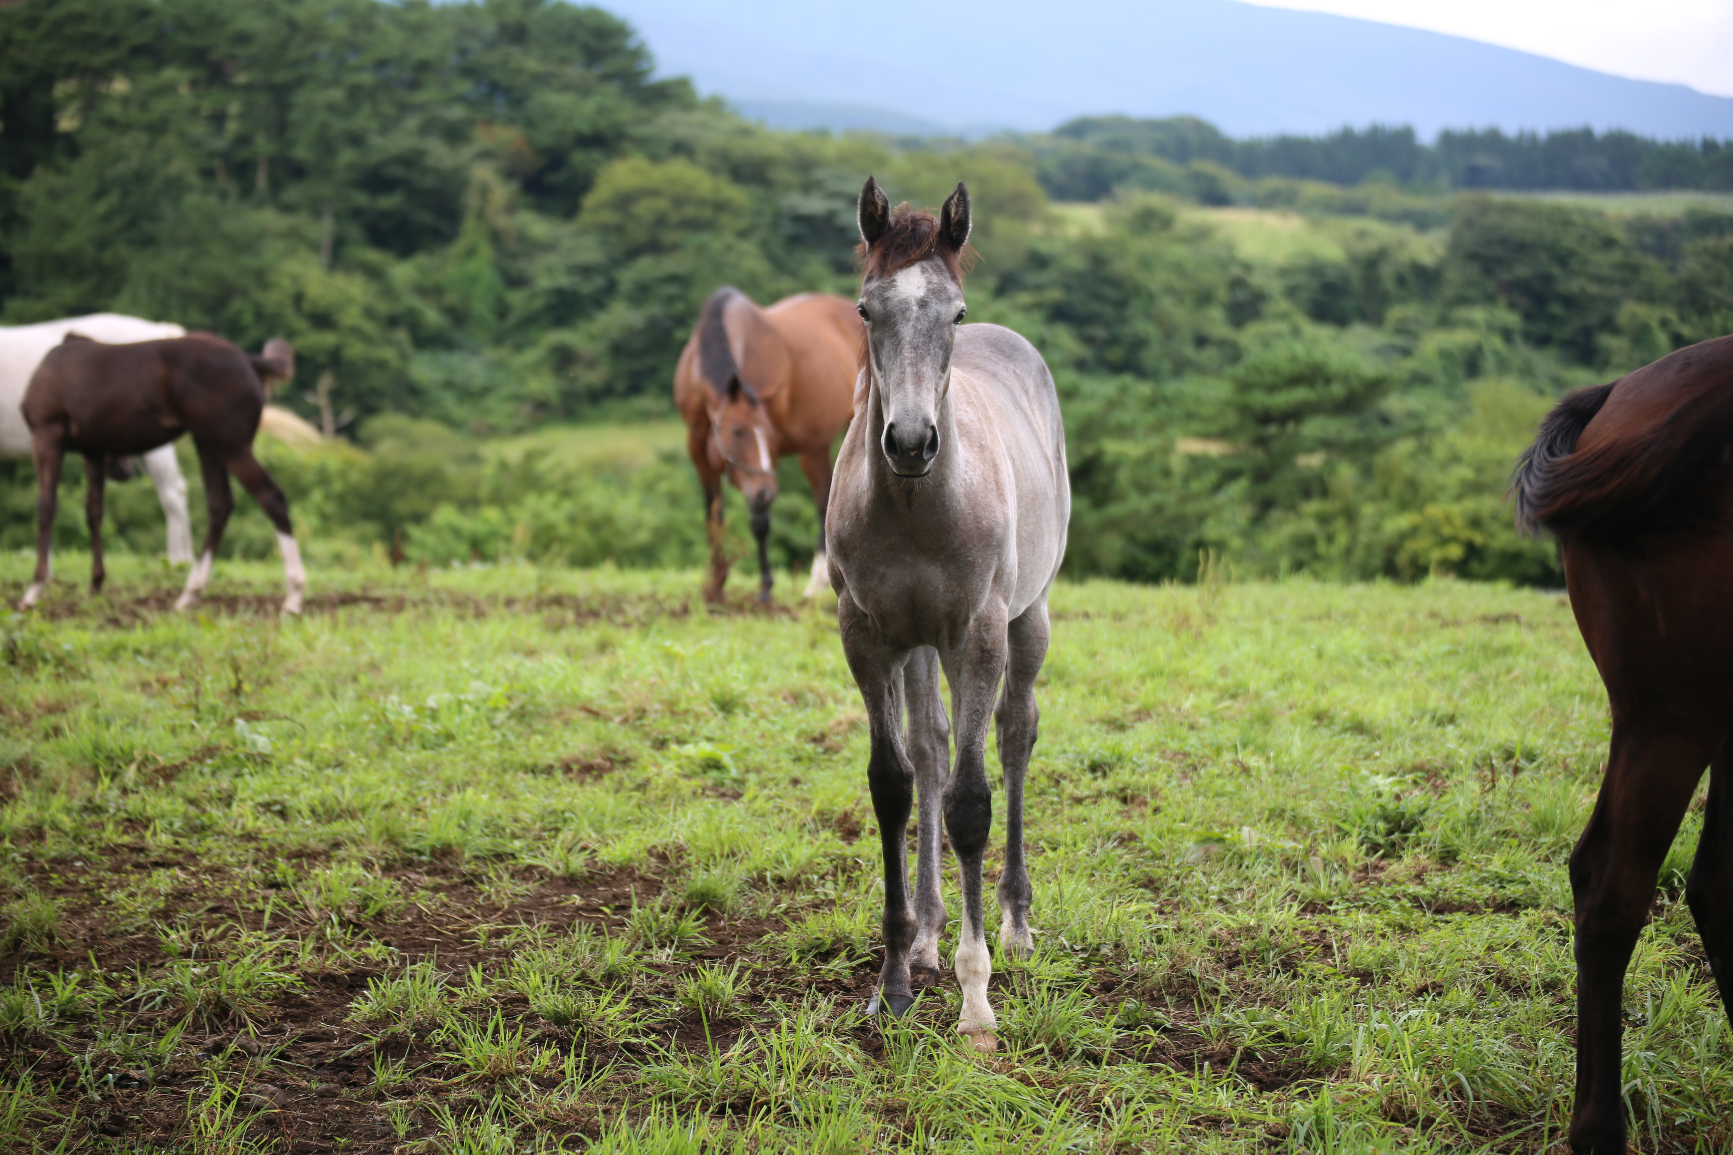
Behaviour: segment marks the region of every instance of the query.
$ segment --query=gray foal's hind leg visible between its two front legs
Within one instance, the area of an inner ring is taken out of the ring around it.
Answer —
[[[941,852],[944,817],[941,803],[950,781],[951,724],[939,696],[939,651],[922,646],[903,667],[903,696],[908,701],[906,750],[915,764],[915,797],[920,819],[915,824],[915,945],[908,958],[908,982],[915,990],[936,987],[939,937],[944,935],[944,895],[939,881],[944,871]]]

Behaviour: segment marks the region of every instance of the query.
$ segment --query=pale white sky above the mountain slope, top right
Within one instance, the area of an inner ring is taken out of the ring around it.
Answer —
[[[1733,97],[1733,0],[1251,0],[1537,52]]]

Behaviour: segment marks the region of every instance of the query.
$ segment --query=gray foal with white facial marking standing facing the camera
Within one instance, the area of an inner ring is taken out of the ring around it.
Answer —
[[[1071,516],[1064,426],[1035,346],[998,326],[962,324],[969,190],[958,184],[934,220],[908,206],[892,211],[868,177],[858,218],[866,357],[825,533],[842,649],[872,729],[866,779],[884,840],[886,952],[868,1013],[901,1015],[917,987],[939,982],[943,809],[964,892],[957,1029],[991,1051],[993,966],[981,918],[981,854],[993,824],[986,729],[993,719],[1005,767],[998,939],[1028,954],[1022,778],[1036,732],[1035,675],[1047,656],[1047,589]],[[950,772],[941,665],[957,719]],[[917,788],[910,906],[905,838]]]

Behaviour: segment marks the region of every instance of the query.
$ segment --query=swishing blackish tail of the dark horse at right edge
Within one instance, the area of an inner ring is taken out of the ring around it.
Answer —
[[[1674,530],[1705,514],[1705,481],[1728,464],[1733,447],[1733,388],[1695,393],[1645,436],[1574,452],[1612,390],[1596,384],[1568,393],[1541,423],[1511,476],[1518,526],[1620,539]]]

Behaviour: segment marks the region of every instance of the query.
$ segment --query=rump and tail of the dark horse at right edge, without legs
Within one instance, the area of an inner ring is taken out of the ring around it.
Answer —
[[[1721,519],[1733,336],[1565,397],[1511,478],[1523,528],[1613,540]]]

